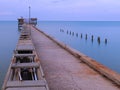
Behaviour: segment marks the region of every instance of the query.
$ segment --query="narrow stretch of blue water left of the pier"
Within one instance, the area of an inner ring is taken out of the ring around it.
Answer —
[[[18,36],[17,22],[0,21],[0,88],[10,65]]]

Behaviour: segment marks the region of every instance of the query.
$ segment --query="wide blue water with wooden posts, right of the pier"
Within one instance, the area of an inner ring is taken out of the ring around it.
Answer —
[[[120,73],[120,22],[43,21],[38,27]]]

